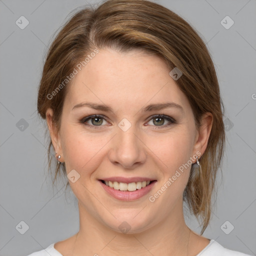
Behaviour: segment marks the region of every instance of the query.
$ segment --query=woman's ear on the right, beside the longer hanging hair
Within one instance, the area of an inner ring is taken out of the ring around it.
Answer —
[[[206,112],[201,117],[201,125],[199,132],[196,132],[195,143],[193,147],[193,153],[199,151],[202,155],[207,147],[208,138],[210,135],[213,122],[213,115],[210,112]],[[200,157],[199,157],[200,158]]]

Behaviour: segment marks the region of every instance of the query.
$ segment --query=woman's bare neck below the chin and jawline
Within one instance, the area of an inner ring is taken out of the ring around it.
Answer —
[[[121,233],[107,227],[89,214],[78,202],[80,228],[73,245],[72,256],[111,255],[179,255],[186,256],[190,229],[186,226],[182,203],[156,225],[142,231]],[[181,212],[180,212],[181,209]],[[182,217],[181,217],[182,216]],[[121,223],[120,221],[116,222]]]

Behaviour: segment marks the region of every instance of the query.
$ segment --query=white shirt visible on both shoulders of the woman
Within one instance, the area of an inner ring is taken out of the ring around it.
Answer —
[[[35,251],[27,256],[63,256],[54,248],[54,243],[50,244],[46,249]],[[211,239],[209,244],[202,249],[196,256],[252,256],[224,248],[215,240]]]

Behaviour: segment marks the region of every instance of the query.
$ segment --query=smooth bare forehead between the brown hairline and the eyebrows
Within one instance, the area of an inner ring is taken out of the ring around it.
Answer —
[[[169,75],[168,66],[155,54],[137,49],[126,53],[100,49],[77,70],[68,85],[65,101],[69,109],[88,100],[124,109],[163,101],[189,107],[186,96]]]

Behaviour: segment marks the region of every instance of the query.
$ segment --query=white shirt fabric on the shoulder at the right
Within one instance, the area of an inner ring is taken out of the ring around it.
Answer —
[[[221,244],[211,239],[210,243],[196,256],[251,256],[239,251],[227,249]]]

